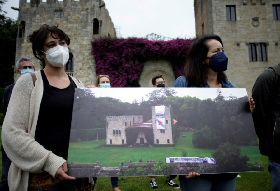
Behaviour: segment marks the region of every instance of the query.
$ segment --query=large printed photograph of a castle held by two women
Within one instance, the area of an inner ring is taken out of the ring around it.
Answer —
[[[264,171],[245,88],[76,88],[68,175]]]

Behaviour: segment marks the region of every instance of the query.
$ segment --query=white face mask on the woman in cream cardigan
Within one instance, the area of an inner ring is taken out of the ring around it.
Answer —
[[[50,48],[44,53],[46,54],[47,61],[55,67],[64,66],[69,59],[68,47],[64,47],[60,45],[57,45],[54,48]]]

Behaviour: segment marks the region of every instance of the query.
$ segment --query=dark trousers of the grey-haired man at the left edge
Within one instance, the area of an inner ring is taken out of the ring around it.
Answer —
[[[0,183],[1,191],[9,191],[8,172],[9,172],[10,165],[11,165],[11,161],[7,157],[6,152],[3,149],[2,150],[2,176],[1,176],[1,183]]]

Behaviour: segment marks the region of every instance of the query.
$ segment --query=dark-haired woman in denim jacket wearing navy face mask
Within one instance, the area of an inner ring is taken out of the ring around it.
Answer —
[[[228,58],[217,35],[203,36],[191,45],[184,67],[184,76],[176,79],[173,87],[234,88],[224,71]],[[234,191],[237,173],[189,173],[179,176],[182,191],[221,190]]]

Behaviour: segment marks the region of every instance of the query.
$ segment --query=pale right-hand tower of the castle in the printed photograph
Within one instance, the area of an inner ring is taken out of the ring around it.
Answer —
[[[172,138],[172,123],[173,119],[171,119],[170,107],[165,107],[164,111],[164,122],[165,129],[164,133],[161,133],[160,129],[156,128],[156,110],[155,106],[152,106],[152,124],[153,124],[153,133],[154,133],[154,144],[156,144],[156,140],[158,139],[158,144],[173,144]],[[166,120],[168,123],[166,123]],[[167,143],[167,139],[169,139],[169,143]]]

